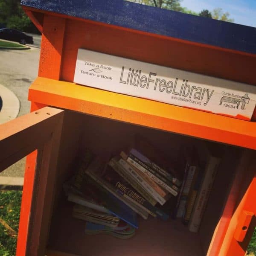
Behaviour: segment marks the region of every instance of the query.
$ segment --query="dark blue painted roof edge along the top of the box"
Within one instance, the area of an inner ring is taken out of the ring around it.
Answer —
[[[21,0],[21,4],[129,29],[256,54],[256,28],[123,0]]]

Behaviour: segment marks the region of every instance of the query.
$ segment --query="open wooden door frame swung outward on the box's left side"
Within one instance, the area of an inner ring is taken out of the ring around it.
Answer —
[[[26,170],[17,254],[41,255],[47,241],[64,111],[45,107],[0,125],[0,172],[27,154],[37,154]],[[40,187],[40,190],[38,189]],[[42,249],[43,248],[43,249]]]

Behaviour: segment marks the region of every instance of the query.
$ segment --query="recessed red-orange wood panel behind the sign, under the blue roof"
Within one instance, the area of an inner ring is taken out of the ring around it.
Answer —
[[[73,81],[77,51],[90,49],[208,76],[256,84],[256,55],[156,36],[87,20],[67,19],[61,80]],[[78,36],[79,35],[79,36]]]

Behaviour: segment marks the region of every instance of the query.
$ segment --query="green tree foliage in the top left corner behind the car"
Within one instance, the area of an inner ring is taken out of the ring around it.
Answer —
[[[0,0],[0,23],[11,29],[39,33],[20,6],[20,0]]]

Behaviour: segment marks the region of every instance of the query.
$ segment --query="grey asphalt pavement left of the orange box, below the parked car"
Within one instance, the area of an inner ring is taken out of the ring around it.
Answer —
[[[29,113],[28,89],[38,76],[41,36],[32,35],[35,44],[28,50],[0,49],[0,84],[11,90],[20,101],[18,116]],[[0,92],[1,93],[1,92]],[[25,159],[0,173],[1,176],[23,177]]]

